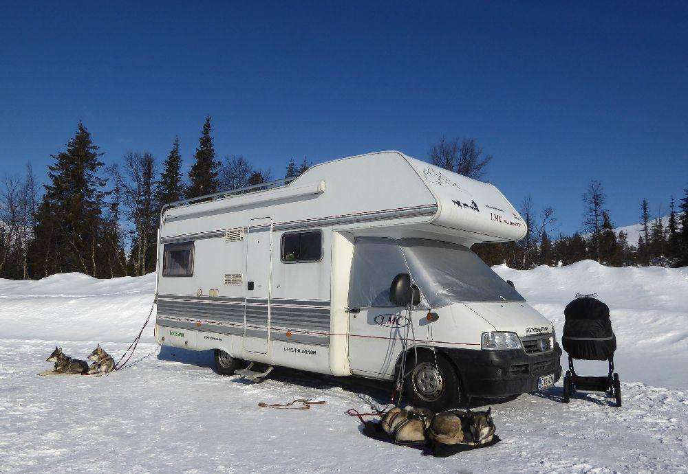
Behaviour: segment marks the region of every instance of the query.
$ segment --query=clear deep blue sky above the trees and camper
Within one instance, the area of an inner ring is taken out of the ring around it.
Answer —
[[[563,232],[599,179],[616,225],[688,187],[688,3],[53,2],[0,7],[0,164],[39,178],[83,120],[107,163],[206,114],[219,155],[283,174],[474,137]],[[400,190],[402,192],[402,190]]]

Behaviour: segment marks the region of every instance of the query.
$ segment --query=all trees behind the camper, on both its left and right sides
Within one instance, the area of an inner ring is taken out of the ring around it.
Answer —
[[[220,190],[260,185],[273,179],[270,168],[252,166],[242,155],[217,159],[211,117],[206,117],[191,168],[184,174],[179,139],[159,163],[149,152],[127,153],[105,166],[83,123],[65,150],[52,155],[43,190],[28,165],[23,177],[8,176],[0,186],[0,278],[39,279],[78,271],[96,278],[144,275],[155,270],[158,220],[166,203]],[[431,163],[474,179],[484,179],[492,155],[475,139],[442,137],[428,153]],[[308,170],[290,159],[285,178]],[[596,260],[614,267],[688,265],[688,188],[678,204],[671,197],[665,225],[640,205],[641,235],[630,242],[617,235],[605,207],[603,185],[591,180],[582,196],[584,218],[573,235],[557,232],[551,206],[536,210],[531,196],[519,204],[528,227],[518,242],[476,244],[488,264],[516,269]]]

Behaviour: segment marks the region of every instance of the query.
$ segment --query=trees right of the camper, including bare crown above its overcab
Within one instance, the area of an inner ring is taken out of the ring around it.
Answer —
[[[444,137],[430,148],[428,157],[436,166],[474,179],[484,177],[493,159],[477,146],[475,139]],[[588,183],[583,193],[581,230],[573,235],[557,232],[557,218],[551,206],[538,211],[532,197],[526,196],[518,206],[528,227],[522,240],[476,244],[472,249],[489,265],[507,264],[515,269],[568,265],[586,259],[611,267],[684,267],[688,265],[688,188],[684,193],[678,210],[671,196],[666,225],[661,216],[650,216],[649,203],[643,199],[639,213],[641,234],[634,242],[628,240],[625,232],[614,232],[614,223],[605,207],[607,196],[596,179]]]

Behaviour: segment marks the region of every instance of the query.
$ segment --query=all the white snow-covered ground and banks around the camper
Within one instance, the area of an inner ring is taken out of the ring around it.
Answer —
[[[160,350],[147,330],[109,376],[39,377],[59,344],[117,356],[147,316],[155,277],[0,280],[0,471],[628,472],[687,471],[688,269],[495,267],[561,335],[575,293],[612,308],[624,406],[603,395],[561,403],[561,382],[493,405],[502,442],[451,458],[369,440],[346,409],[384,405],[389,387],[277,369],[259,385],[211,370],[208,352]],[[565,360],[564,360],[565,362]],[[605,363],[576,363],[601,375]],[[565,365],[565,364],[564,364]],[[585,369],[585,370],[580,370]],[[325,400],[308,411],[259,402]]]

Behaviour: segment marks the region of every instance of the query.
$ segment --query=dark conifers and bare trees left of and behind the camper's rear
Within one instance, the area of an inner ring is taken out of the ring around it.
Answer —
[[[95,278],[155,270],[158,220],[166,203],[271,181],[270,168],[244,156],[217,159],[206,117],[188,174],[178,137],[159,163],[149,152],[127,153],[105,166],[82,122],[65,150],[51,155],[41,191],[31,166],[0,186],[0,278],[39,279],[77,271]],[[310,163],[290,159],[286,178]]]

